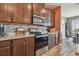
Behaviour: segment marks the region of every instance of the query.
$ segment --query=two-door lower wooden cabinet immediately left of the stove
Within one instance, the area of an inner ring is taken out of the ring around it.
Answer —
[[[34,56],[34,37],[16,39],[12,42],[12,54],[14,56]]]

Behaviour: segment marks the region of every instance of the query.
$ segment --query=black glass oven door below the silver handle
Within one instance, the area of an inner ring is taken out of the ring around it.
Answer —
[[[48,36],[36,38],[36,50],[48,45]]]

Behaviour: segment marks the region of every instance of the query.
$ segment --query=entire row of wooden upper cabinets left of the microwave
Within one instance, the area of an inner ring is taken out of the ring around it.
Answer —
[[[0,22],[32,23],[31,3],[0,3]]]

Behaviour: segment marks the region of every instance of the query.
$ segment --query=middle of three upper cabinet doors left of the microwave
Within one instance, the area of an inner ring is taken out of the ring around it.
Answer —
[[[12,20],[14,23],[22,23],[23,21],[23,4],[16,3],[12,4],[13,15]]]

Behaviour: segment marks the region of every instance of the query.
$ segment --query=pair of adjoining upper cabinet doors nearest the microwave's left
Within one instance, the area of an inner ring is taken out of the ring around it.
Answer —
[[[14,23],[31,24],[32,4],[16,3],[12,4],[12,8],[13,8],[12,21]]]

